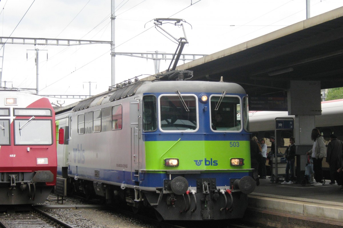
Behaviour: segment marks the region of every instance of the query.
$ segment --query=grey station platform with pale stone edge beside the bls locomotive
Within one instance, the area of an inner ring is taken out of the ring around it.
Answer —
[[[323,186],[310,184],[302,186],[300,183],[282,185],[281,182],[272,183],[270,180],[268,177],[260,179],[260,185],[256,186],[255,190],[248,195],[250,218],[252,212],[260,212],[316,221],[326,224],[325,227],[328,227],[329,224],[332,227],[343,226],[342,186],[330,185],[330,180],[326,180]],[[278,220],[275,219],[275,216],[269,218],[261,215],[255,216],[257,220],[261,220],[258,217],[263,217],[263,221],[260,222],[264,225],[280,226],[280,224],[272,224]],[[283,222],[289,223],[289,219],[282,220],[284,219],[279,221],[282,227],[284,226]]]

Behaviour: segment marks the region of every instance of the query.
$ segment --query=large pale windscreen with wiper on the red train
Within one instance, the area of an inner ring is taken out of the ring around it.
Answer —
[[[14,119],[14,144],[51,145],[51,119]]]

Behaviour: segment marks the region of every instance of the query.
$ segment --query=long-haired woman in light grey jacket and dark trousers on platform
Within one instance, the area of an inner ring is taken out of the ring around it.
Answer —
[[[317,128],[312,129],[311,139],[313,142],[312,150],[309,150],[306,154],[311,154],[313,161],[313,170],[315,171],[315,182],[311,185],[322,186],[323,169],[322,161],[325,155],[325,143],[324,138],[321,136]]]

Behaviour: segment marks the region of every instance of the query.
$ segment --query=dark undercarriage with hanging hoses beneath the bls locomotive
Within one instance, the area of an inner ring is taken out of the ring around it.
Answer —
[[[245,178],[249,178],[250,183],[253,181],[251,177]],[[138,186],[119,186],[119,183],[113,185],[69,177],[70,186],[73,186],[69,190],[82,193],[87,198],[95,195],[103,197],[107,203],[120,202],[131,206],[134,211],[141,207],[152,207],[157,212],[157,217],[164,220],[240,218],[248,206],[245,190],[242,192],[238,183],[235,184],[239,179],[232,179],[231,187],[217,187],[215,178],[197,179],[197,186],[188,188],[184,194],[175,194],[168,185],[169,181],[165,180],[164,187],[147,191]]]

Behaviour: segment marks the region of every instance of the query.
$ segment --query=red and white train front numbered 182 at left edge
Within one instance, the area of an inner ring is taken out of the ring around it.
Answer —
[[[0,91],[0,204],[44,203],[56,184],[55,112],[47,98]]]

